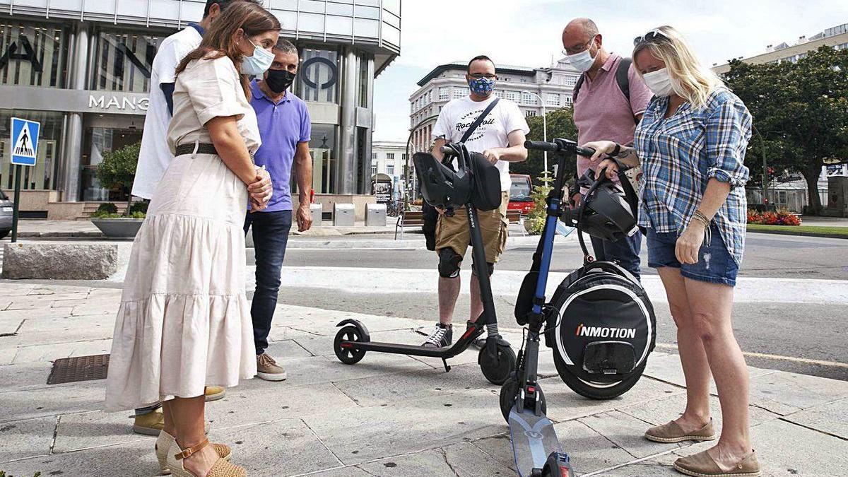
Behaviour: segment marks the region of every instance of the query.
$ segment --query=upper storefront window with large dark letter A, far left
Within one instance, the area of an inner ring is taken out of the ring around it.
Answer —
[[[67,27],[0,19],[0,85],[64,87]]]

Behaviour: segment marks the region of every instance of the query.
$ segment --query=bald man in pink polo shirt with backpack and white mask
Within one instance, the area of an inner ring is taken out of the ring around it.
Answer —
[[[588,18],[578,18],[566,25],[562,46],[569,63],[583,72],[574,87],[577,143],[614,137],[616,143],[633,144],[636,124],[653,95],[636,74],[630,59],[607,52],[598,26]],[[590,167],[589,158],[577,156],[577,177]],[[572,200],[575,205],[579,203],[579,191]],[[615,241],[592,237],[595,259],[615,261],[636,278],[639,278],[641,246],[642,235],[638,232]]]

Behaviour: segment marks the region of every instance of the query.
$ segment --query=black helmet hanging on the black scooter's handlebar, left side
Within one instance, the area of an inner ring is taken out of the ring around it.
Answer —
[[[471,175],[465,168],[454,171],[453,166],[443,164],[430,153],[416,153],[412,162],[427,204],[445,210],[466,205],[471,196]]]

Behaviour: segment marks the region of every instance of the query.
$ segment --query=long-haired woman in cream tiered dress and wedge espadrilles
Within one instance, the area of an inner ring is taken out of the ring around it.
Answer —
[[[204,435],[204,386],[256,373],[244,289],[244,210],[261,210],[271,182],[259,148],[248,75],[273,61],[276,17],[233,3],[176,69],[168,145],[175,155],[132,246],[114,328],[106,407],[164,401],[156,453],[176,477],[244,475]],[[249,187],[249,189],[248,189]]]

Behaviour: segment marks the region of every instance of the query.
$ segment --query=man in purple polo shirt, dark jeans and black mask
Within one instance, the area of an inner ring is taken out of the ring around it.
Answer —
[[[276,295],[280,291],[280,268],[286,255],[288,232],[292,227],[292,165],[300,194],[295,220],[303,232],[312,226],[310,196],[312,190],[312,158],[310,157],[310,113],[304,101],[292,92],[298,73],[298,49],[287,40],[279,40],[273,48],[274,63],[262,81],[250,83],[250,104],[256,111],[262,146],[256,151],[257,166],[271,174],[274,194],[261,212],[248,210],[244,233],[253,227],[256,257],[256,291],[250,315],[254,321],[257,376],[268,381],[286,379],[286,370],[265,353],[268,333],[274,317]]]

